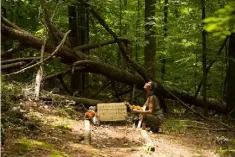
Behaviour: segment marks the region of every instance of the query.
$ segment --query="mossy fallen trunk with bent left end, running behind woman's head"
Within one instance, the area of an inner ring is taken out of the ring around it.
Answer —
[[[111,65],[97,63],[97,62],[90,61],[90,60],[83,60],[83,61],[75,62],[74,66],[79,66],[79,67],[81,66],[83,72],[102,74],[111,80],[115,80],[115,81],[125,83],[131,86],[136,85],[138,89],[143,90],[145,81],[139,75],[130,74],[124,70],[120,70]],[[76,67],[76,68],[79,68],[79,67]],[[54,77],[59,76],[60,74],[68,74],[71,72],[72,70],[68,69],[64,72],[54,74]],[[52,78],[52,76],[53,75],[49,75],[49,76],[46,76],[45,78]],[[176,100],[165,89],[166,87],[164,88],[157,87],[157,90],[162,94],[164,98]],[[168,88],[168,90],[172,92],[174,95],[176,95],[177,97],[179,97],[186,104],[193,104],[195,106],[200,106],[200,107],[204,106],[203,100],[201,97],[194,99],[193,94],[190,94],[183,90],[178,90],[178,89],[173,89],[173,88]],[[214,100],[214,99],[208,100],[208,107],[209,109],[216,110],[217,112],[221,112],[221,113],[224,112],[224,105],[221,102]]]

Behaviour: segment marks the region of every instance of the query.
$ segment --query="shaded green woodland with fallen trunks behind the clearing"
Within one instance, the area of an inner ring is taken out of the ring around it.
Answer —
[[[208,109],[228,114],[235,107],[234,5],[3,1],[2,88],[9,88],[9,81],[36,83],[39,91],[77,103],[142,104],[139,94],[151,79],[165,99],[201,106],[204,115]]]

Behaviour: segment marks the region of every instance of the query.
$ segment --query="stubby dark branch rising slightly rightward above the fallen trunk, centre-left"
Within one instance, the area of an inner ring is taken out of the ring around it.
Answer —
[[[128,39],[124,39],[124,38],[119,38],[119,40],[121,42],[126,42]],[[105,45],[109,45],[109,44],[113,44],[116,43],[117,41],[114,39],[108,39],[108,40],[103,40],[103,41],[99,41],[98,43],[92,43],[92,44],[85,44],[85,45],[81,45],[81,46],[77,46],[74,47],[73,50],[77,51],[84,51],[84,50],[91,50],[91,49],[95,49],[95,48],[99,48]]]

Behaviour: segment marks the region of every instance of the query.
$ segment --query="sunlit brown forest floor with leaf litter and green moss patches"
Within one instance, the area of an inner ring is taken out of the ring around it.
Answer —
[[[11,124],[5,128],[6,140],[1,148],[1,155],[3,157],[217,157],[220,156],[218,150],[224,146],[216,144],[216,139],[219,137],[230,141],[235,139],[234,132],[211,131],[209,123],[199,120],[192,114],[188,116],[172,114],[166,116],[163,132],[149,133],[155,145],[153,153],[144,151],[144,141],[138,130],[123,124],[92,126],[91,145],[88,146],[83,144],[84,122],[81,119],[84,113],[79,112],[80,109],[22,101],[20,111],[24,115],[21,117],[24,125]],[[186,127],[189,124],[191,128]],[[213,126],[219,127],[215,124]],[[202,128],[208,129],[202,130]],[[229,147],[231,148],[231,145]]]

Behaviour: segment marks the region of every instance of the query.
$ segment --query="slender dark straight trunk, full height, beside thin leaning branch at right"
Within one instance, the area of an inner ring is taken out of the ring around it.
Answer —
[[[205,0],[201,0],[202,20],[206,18]],[[202,25],[204,25],[202,23]],[[207,86],[207,72],[206,72],[206,30],[202,28],[202,70],[203,70],[203,89],[202,96],[204,101],[204,115],[208,115],[208,106],[206,101],[206,86]]]

